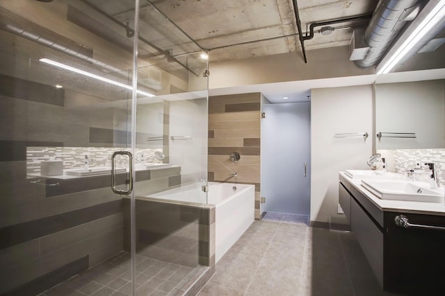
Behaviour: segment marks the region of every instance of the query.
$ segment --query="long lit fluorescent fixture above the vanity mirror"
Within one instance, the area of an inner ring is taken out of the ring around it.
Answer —
[[[437,23],[445,16],[445,0],[437,1],[437,4],[426,17],[422,19],[420,24],[405,39],[403,44],[398,47],[396,52],[380,67],[377,74],[388,73],[394,66],[416,45],[417,42],[424,37],[428,31],[437,26]]]

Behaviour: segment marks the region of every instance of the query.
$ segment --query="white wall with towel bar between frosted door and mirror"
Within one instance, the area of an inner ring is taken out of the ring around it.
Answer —
[[[372,155],[373,88],[371,85],[312,89],[311,221],[346,223],[337,214],[338,172],[369,168]],[[334,139],[334,134],[368,132],[369,137]]]

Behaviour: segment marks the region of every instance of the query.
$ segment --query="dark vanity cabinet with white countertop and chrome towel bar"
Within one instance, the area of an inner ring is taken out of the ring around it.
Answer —
[[[366,189],[362,180],[340,172],[339,204],[384,290],[407,295],[444,295],[443,199],[381,199]]]

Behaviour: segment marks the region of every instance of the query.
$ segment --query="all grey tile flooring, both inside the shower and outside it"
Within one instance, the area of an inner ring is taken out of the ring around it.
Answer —
[[[380,296],[355,236],[308,227],[308,216],[268,213],[254,221],[216,264],[197,296]],[[136,295],[181,295],[195,269],[137,256]],[[108,261],[40,296],[130,295],[129,254]]]

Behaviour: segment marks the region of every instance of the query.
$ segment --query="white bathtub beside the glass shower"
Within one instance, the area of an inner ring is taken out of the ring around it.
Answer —
[[[147,197],[206,203],[201,184],[188,184]],[[216,207],[215,261],[218,262],[254,221],[255,186],[209,182],[207,198]]]

